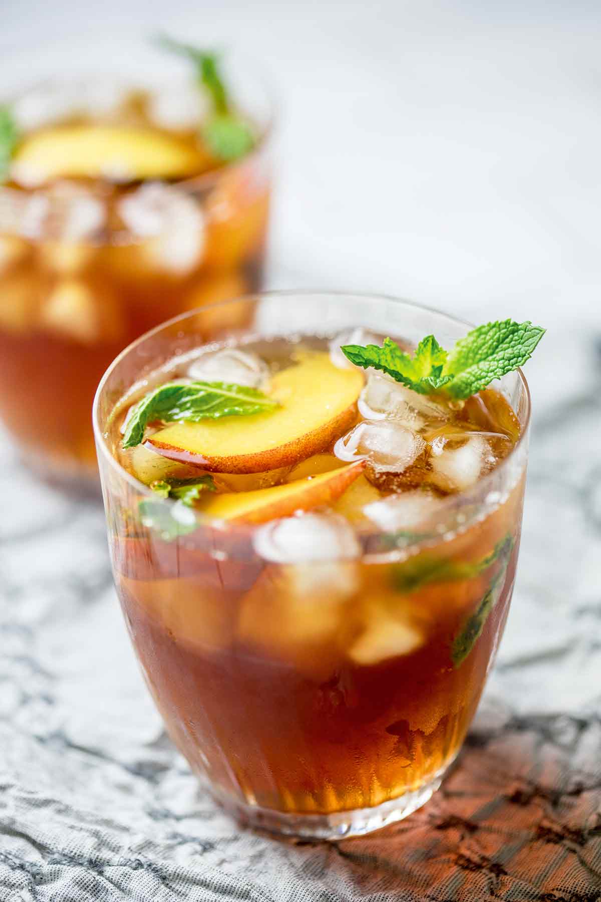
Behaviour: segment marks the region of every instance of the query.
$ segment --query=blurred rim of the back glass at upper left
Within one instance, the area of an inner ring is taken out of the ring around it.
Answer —
[[[276,132],[278,121],[280,118],[280,110],[281,103],[279,100],[279,95],[275,87],[275,79],[272,78],[267,69],[264,69],[260,62],[254,60],[250,55],[247,55],[244,51],[238,51],[235,48],[226,49],[223,51],[223,58],[228,60],[229,58],[235,60],[241,60],[244,68],[247,67],[249,71],[252,73],[253,78],[256,80],[257,84],[260,85],[260,90],[263,93],[264,97],[267,100],[267,106],[269,109],[267,121],[264,125],[260,127],[259,137],[257,143],[252,148],[252,150],[248,153],[245,153],[243,157],[238,160],[231,161],[223,161],[223,164],[219,166],[217,169],[207,170],[206,172],[201,172],[198,175],[191,176],[183,176],[178,179],[132,179],[130,182],[119,182],[119,181],[111,181],[109,179],[101,178],[97,179],[98,183],[103,188],[109,189],[118,189],[118,188],[127,188],[128,185],[132,185],[135,188],[139,188],[141,185],[151,184],[157,181],[165,181],[170,187],[177,188],[186,188],[186,189],[199,189],[205,190],[210,189],[214,186],[220,179],[223,178],[223,174],[230,173],[236,170],[242,169],[245,165],[247,165],[250,161],[254,161],[260,157],[260,155],[265,152],[266,148],[269,147],[269,144],[273,140],[273,135]],[[67,75],[67,74],[59,74],[52,76],[50,78],[38,78],[35,81],[31,81],[25,87],[18,88],[17,90],[12,91],[8,95],[3,95],[0,97],[1,104],[10,104],[14,103],[19,97],[25,96],[30,91],[36,90],[37,88],[48,88],[53,85],[61,86],[68,84],[86,84],[96,82],[105,81],[106,78],[110,78],[114,83],[123,83],[123,85],[129,85],[132,88],[135,87],[148,87],[150,92],[159,87],[159,82],[153,82],[148,73],[144,77],[144,73],[141,73],[139,79],[136,79],[134,76],[129,74],[115,74],[112,72],[110,76],[106,76],[103,74],[101,69],[97,69],[96,71],[85,72],[81,75]],[[160,86],[165,87],[166,85],[178,85],[179,84],[188,84],[192,83],[194,78],[186,77],[186,76],[168,76],[167,78],[162,78],[160,81]],[[46,126],[42,126],[46,127]],[[34,131],[34,130],[32,130]],[[55,179],[60,182],[76,182],[79,183],[79,179],[74,179],[70,176],[63,176],[60,179]],[[49,184],[41,184],[35,186],[18,186],[17,188],[9,187],[6,184],[0,183],[0,199],[9,194],[11,192],[18,192],[19,194],[25,194],[31,196],[33,194],[38,195],[48,195],[49,188],[53,182]],[[52,198],[50,198],[51,202]],[[42,239],[43,240],[43,239]]]

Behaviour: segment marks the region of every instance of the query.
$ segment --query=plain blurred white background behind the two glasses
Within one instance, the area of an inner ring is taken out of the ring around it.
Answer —
[[[538,373],[560,353],[552,327],[565,354],[599,321],[593,0],[2,8],[5,89],[50,72],[172,69],[147,41],[159,30],[263,63],[280,101],[269,287],[385,291],[474,320],[539,321],[551,335],[529,373],[545,396]]]

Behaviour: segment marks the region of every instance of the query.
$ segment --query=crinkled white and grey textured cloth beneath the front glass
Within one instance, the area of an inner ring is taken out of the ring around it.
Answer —
[[[0,452],[0,902],[601,900],[598,395],[533,429],[513,609],[459,761],[404,822],[338,844],[242,829],[198,788],[129,646],[103,511]]]

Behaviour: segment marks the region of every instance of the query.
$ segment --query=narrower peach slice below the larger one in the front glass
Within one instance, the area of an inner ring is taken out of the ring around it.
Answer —
[[[274,485],[270,489],[214,495],[202,511],[209,517],[232,523],[265,523],[278,517],[289,517],[295,511],[309,511],[340,498],[360,476],[363,466],[363,461],[358,461],[331,473]]]

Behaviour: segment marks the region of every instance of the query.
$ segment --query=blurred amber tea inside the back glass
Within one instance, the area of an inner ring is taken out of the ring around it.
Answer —
[[[72,181],[105,206],[109,231],[97,243],[63,240],[51,217],[35,240],[3,233],[0,222],[0,418],[35,469],[97,486],[91,407],[117,354],[178,313],[260,288],[269,215],[262,165],[250,158],[214,170],[208,189],[194,179],[181,189],[205,218],[197,261],[184,272],[177,260],[169,265],[168,232],[120,231],[115,210],[140,186]],[[205,338],[241,327],[245,316],[215,311]]]

